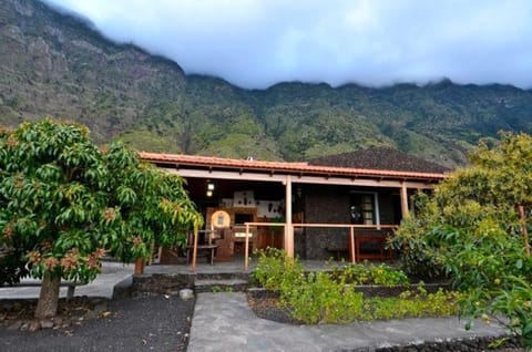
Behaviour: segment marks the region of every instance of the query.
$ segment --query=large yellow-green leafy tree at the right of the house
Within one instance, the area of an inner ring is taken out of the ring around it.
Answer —
[[[464,293],[462,314],[505,315],[531,346],[532,257],[521,209],[532,204],[532,137],[502,134],[495,145],[480,143],[470,161],[417,198],[393,245],[409,271],[450,276]]]

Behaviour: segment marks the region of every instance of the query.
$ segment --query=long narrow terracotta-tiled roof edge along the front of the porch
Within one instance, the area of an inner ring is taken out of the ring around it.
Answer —
[[[368,169],[339,166],[319,166],[308,163],[288,163],[288,162],[263,162],[231,159],[214,156],[185,155],[185,154],[160,154],[141,152],[143,161],[156,164],[173,164],[180,166],[213,167],[213,168],[235,168],[259,172],[278,172],[296,175],[326,175],[326,176],[352,176],[352,177],[379,177],[379,178],[411,178],[439,180],[446,177],[443,173],[419,173],[400,172],[386,169]]]

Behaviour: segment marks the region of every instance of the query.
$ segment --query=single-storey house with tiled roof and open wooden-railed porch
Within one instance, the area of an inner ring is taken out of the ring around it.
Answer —
[[[411,209],[410,196],[433,188],[448,170],[387,148],[305,163],[156,153],[141,153],[141,158],[186,179],[206,230],[214,228],[216,211],[227,215],[228,227],[216,234],[218,260],[267,246],[303,259],[348,255],[349,249],[354,261],[372,258],[359,252],[364,241],[382,244],[382,235]],[[382,258],[382,246],[378,250]]]

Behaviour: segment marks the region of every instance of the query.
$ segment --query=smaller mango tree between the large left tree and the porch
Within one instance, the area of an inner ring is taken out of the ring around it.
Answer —
[[[135,272],[142,273],[143,262],[153,248],[184,246],[186,234],[200,228],[202,216],[183,188],[181,177],[163,173],[141,163],[139,155],[116,143],[105,154],[112,204],[120,216],[120,231],[110,237],[110,248],[123,261],[136,259]]]

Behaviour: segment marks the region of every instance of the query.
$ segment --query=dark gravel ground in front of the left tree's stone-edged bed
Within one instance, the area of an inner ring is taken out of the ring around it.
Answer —
[[[109,302],[106,318],[81,321],[68,331],[0,329],[0,351],[186,351],[194,301],[178,296]]]

